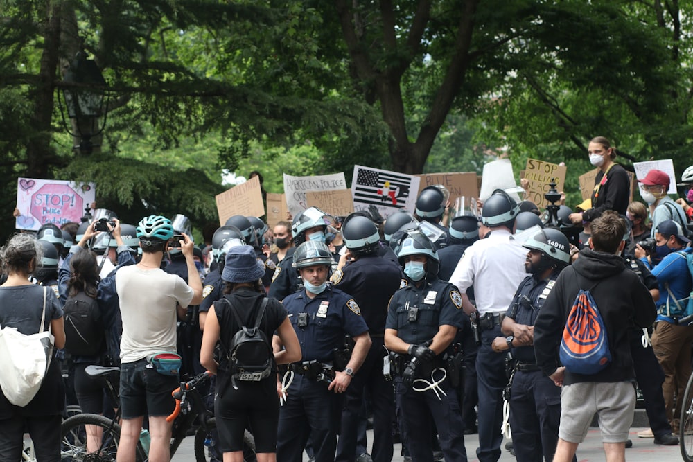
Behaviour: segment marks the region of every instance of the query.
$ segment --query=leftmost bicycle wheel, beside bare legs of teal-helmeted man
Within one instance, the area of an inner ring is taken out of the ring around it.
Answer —
[[[87,429],[85,425],[95,425],[103,429],[100,450],[97,453],[87,452]],[[115,462],[121,427],[107,417],[98,414],[78,414],[62,423],[62,445],[60,460],[62,462]],[[137,461],[143,461],[137,454]]]

